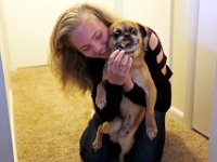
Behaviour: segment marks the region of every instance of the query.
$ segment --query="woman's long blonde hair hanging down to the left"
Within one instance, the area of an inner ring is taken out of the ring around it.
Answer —
[[[107,27],[115,17],[88,3],[71,6],[58,18],[50,38],[49,65],[62,83],[64,92],[76,85],[82,92],[92,87],[92,81],[87,71],[87,58],[68,42],[68,36],[81,23],[84,16],[97,16]]]

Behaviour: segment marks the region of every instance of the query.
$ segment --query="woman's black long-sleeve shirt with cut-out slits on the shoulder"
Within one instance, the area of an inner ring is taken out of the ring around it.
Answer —
[[[158,39],[157,35],[151,28],[146,28],[146,32],[149,39],[151,38],[151,35],[155,35],[155,38]],[[154,50],[152,50],[148,43],[148,51],[144,56],[144,60],[149,66],[149,70],[157,89],[157,99],[155,104],[155,110],[166,112],[171,105],[171,87],[169,78],[171,77],[173,72],[166,65],[166,55],[164,54],[164,52],[161,62],[157,62],[156,57],[157,55],[159,55],[161,52],[163,52],[163,49],[159,39]],[[91,58],[88,62],[88,70],[93,81],[93,89],[91,93],[92,93],[94,109],[103,121],[111,121],[114,119],[114,117],[119,114],[119,106],[124,92],[122,85],[114,85],[106,82],[105,84],[106,106],[102,110],[97,107],[95,105],[97,86],[101,82],[104,64],[105,59]],[[163,68],[167,69],[166,75],[163,75],[162,72]],[[135,104],[139,104],[143,107],[146,106],[145,92],[136,83],[132,90],[129,91],[128,93],[125,93],[124,95]]]

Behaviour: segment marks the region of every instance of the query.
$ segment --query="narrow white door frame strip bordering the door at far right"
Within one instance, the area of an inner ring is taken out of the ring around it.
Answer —
[[[193,121],[193,98],[194,98],[194,77],[195,76],[195,58],[196,58],[196,37],[199,22],[199,0],[187,2],[188,8],[188,24],[189,24],[189,42],[188,42],[188,58],[186,71],[186,94],[184,94],[184,112],[183,122],[192,127]]]

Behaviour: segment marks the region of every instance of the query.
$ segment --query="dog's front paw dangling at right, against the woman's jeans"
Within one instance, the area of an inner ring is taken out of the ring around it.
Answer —
[[[146,118],[145,120],[145,124],[146,124],[146,135],[149,136],[149,138],[152,140],[156,137],[157,135],[157,126],[156,126],[156,122],[154,119],[149,119]]]

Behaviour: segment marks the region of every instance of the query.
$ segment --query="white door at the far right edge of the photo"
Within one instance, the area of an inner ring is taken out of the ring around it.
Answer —
[[[199,9],[193,129],[209,137],[217,55],[217,1],[201,0]]]

